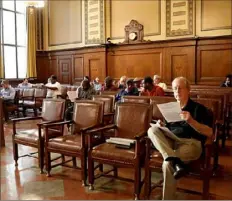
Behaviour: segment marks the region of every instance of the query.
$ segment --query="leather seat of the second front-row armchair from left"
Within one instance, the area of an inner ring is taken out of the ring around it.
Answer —
[[[99,144],[102,140],[96,136],[93,138],[93,144]],[[52,149],[58,149],[63,151],[80,151],[81,150],[81,135],[64,135],[56,138],[52,138],[48,142],[48,147]],[[85,147],[88,147],[87,136],[85,138]]]

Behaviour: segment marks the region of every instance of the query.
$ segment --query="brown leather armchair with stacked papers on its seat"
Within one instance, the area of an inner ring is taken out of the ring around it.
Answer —
[[[145,147],[144,136],[147,133],[151,120],[150,104],[142,103],[117,103],[114,124],[103,128],[94,129],[89,132],[89,152],[88,152],[88,175],[89,189],[93,190],[94,162],[112,165],[113,169],[107,171],[108,174],[114,171],[117,177],[117,167],[127,167],[135,170],[134,175],[134,195],[138,199],[141,190],[141,166],[144,160]],[[115,137],[129,138],[136,140],[135,147],[130,149],[116,148],[114,144],[103,143],[98,146],[93,144],[93,136],[97,132],[114,129]],[[104,172],[103,174],[104,175]]]

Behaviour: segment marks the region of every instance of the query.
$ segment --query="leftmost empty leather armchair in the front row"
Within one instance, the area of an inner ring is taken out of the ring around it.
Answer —
[[[29,154],[19,156],[18,155],[18,145],[25,145],[30,147],[38,148],[38,158],[39,167],[41,173],[43,173],[44,167],[44,140],[45,133],[42,129],[44,123],[58,122],[64,119],[65,101],[64,100],[54,100],[54,99],[44,99],[42,106],[42,114],[39,117],[25,117],[13,119],[13,153],[15,165],[18,165],[18,158],[24,156],[30,156]],[[24,122],[29,120],[40,120],[37,129],[16,129],[18,122]],[[48,138],[56,137],[62,135],[62,127],[51,127],[48,130]]]

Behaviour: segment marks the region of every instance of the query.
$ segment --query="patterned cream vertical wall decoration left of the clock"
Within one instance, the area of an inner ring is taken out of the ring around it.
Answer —
[[[85,1],[85,43],[104,43],[104,0]]]

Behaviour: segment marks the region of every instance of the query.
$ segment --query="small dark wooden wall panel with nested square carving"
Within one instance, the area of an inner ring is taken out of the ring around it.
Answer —
[[[58,74],[59,82],[63,84],[71,83],[71,76],[72,76],[71,57],[59,57],[58,63],[59,63],[59,74]]]

